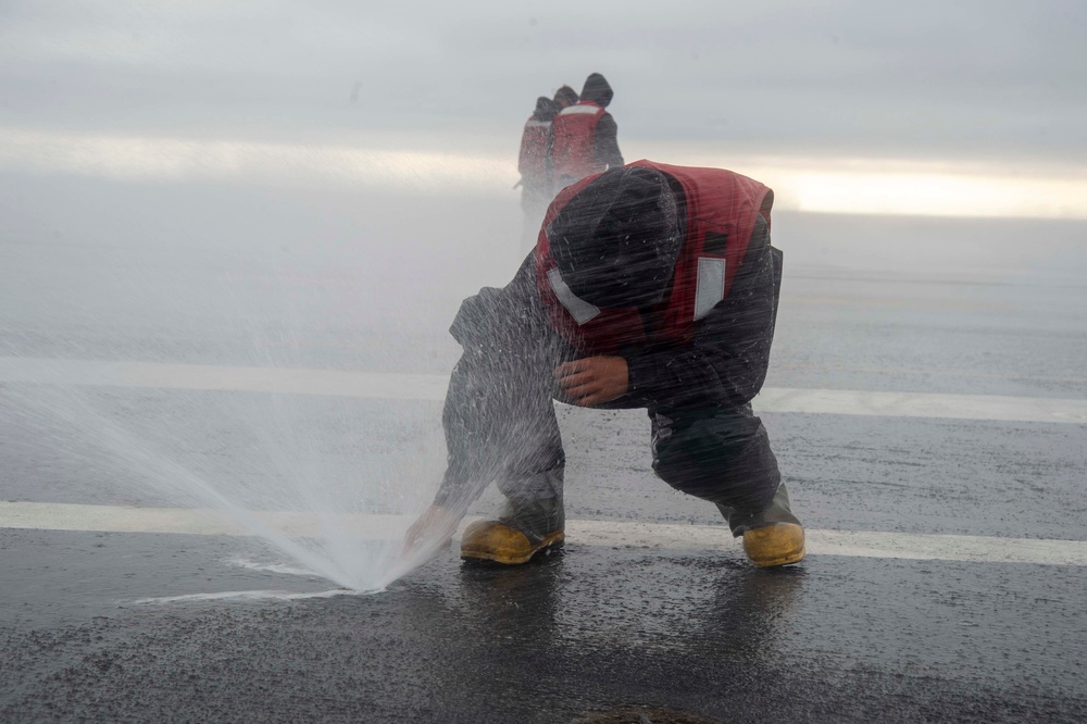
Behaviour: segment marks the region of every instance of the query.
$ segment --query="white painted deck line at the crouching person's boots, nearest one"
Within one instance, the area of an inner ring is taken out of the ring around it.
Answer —
[[[320,521],[312,514],[252,514],[290,535],[313,534],[320,529]],[[389,540],[400,538],[413,519],[408,515],[343,515],[338,520],[347,533]],[[465,520],[462,529],[470,522]],[[250,535],[240,523],[224,521],[207,510],[2,501],[0,529]],[[667,551],[728,550],[735,553],[739,548],[739,541],[724,525],[574,520],[566,522],[566,539],[586,546]],[[808,551],[811,556],[1087,566],[1087,541],[1083,540],[809,529]]]

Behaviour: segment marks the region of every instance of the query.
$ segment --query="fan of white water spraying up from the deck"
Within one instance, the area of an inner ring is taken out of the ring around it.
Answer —
[[[433,552],[401,556],[442,464],[433,410],[58,385],[8,384],[3,397],[32,448],[24,459],[67,461],[83,495],[207,510],[357,591],[384,589]]]

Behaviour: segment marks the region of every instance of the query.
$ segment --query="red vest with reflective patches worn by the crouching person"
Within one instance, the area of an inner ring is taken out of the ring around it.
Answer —
[[[551,326],[584,354],[617,354],[654,342],[689,341],[695,325],[733,289],[757,217],[770,224],[770,189],[720,168],[636,161],[679,182],[686,233],[664,300],[645,310],[599,309],[577,298],[551,258],[547,228],[562,208],[597,176],[563,189],[548,209],[536,247],[537,286]],[[650,323],[647,326],[646,321]]]

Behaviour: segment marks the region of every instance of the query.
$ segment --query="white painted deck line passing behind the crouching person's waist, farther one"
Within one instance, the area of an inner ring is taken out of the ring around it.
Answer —
[[[445,375],[233,367],[0,357],[0,383],[327,395],[387,400],[445,398]],[[763,388],[757,412],[1087,424],[1087,400],[848,389]]]

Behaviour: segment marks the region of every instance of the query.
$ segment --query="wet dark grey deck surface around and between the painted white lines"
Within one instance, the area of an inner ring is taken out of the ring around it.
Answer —
[[[472,272],[464,249],[415,246],[404,251],[410,273],[390,274],[350,240],[407,244],[434,237],[426,225],[437,222],[397,226],[346,198],[266,207],[258,192],[228,203],[182,189],[183,213],[178,189],[38,183],[65,213],[26,211],[42,190],[30,182],[25,198],[8,197],[4,355],[440,374],[455,348],[436,317],[509,266]],[[108,203],[121,191],[138,202],[135,221]],[[243,213],[258,207],[267,211]],[[497,229],[520,223],[511,209],[492,217]],[[326,240],[305,240],[318,222]],[[783,214],[776,224],[788,272],[769,385],[1085,397],[1083,227],[1051,223],[1027,257],[1016,226],[1026,222]],[[864,257],[872,238],[935,234],[991,248],[971,266]],[[483,258],[479,241],[460,241]],[[455,283],[405,291],[439,271]],[[141,470],[87,420],[65,424],[45,405],[28,416],[26,394],[0,384],[0,500],[176,502],[177,489],[147,484],[161,471]],[[76,396],[185,467],[259,497],[268,474],[259,421],[275,400]],[[333,398],[277,409],[279,433],[304,440],[341,487],[360,470],[395,474],[388,460],[433,439],[439,414],[430,402]],[[764,420],[809,527],[1087,540],[1082,425]],[[653,478],[640,414],[563,409],[561,423],[570,517],[717,522],[711,505]],[[389,504],[379,498],[361,503]],[[476,512],[496,501],[488,494]],[[233,563],[275,556],[252,538],[0,529],[0,721],[570,722],[627,706],[721,722],[1087,719],[1077,566],[812,556],[759,571],[738,546],[711,554],[571,539],[517,569],[462,565],[446,550],[376,595],[139,602],[335,588]]]

